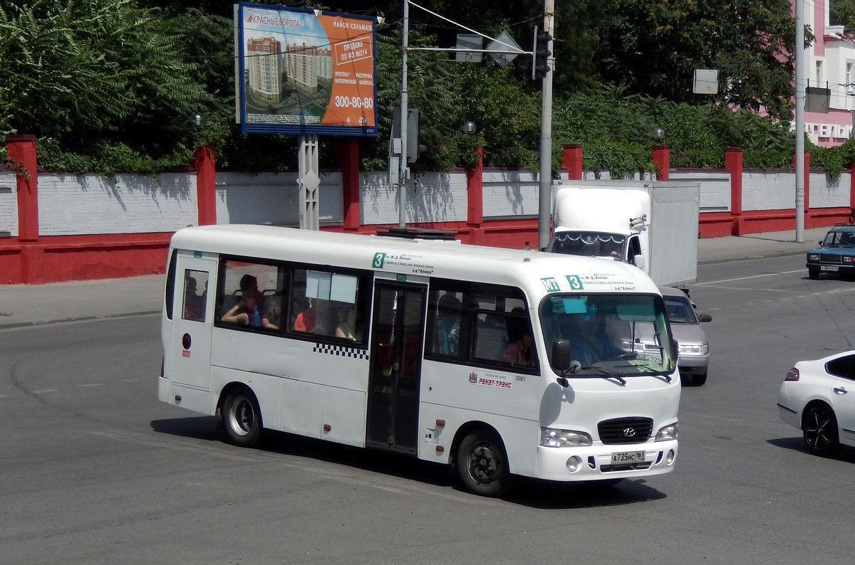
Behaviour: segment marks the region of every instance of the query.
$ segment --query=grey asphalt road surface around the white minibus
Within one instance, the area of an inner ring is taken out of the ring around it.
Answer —
[[[276,434],[229,446],[156,400],[159,319],[0,332],[0,562],[849,562],[855,450],[778,419],[793,363],[852,347],[855,283],[799,256],[701,265],[712,362],[675,472],[461,491],[444,469]]]

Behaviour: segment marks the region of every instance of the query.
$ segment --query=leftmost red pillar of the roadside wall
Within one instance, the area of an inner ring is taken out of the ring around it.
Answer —
[[[6,151],[15,166],[18,188],[18,241],[38,240],[38,170],[36,166],[36,137],[12,135],[6,137]]]

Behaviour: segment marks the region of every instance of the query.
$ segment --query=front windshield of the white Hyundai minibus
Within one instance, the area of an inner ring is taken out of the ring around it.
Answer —
[[[540,304],[547,353],[567,340],[567,377],[670,374],[676,352],[664,303],[653,294],[551,294]],[[551,358],[550,358],[551,361]],[[578,362],[578,363],[577,363]]]

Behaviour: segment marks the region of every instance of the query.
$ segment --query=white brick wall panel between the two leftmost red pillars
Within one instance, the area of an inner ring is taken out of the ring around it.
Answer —
[[[151,233],[197,223],[192,174],[38,175],[40,236]]]

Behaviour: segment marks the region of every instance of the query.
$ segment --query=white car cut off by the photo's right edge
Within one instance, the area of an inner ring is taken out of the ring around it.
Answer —
[[[802,430],[815,455],[832,457],[855,446],[855,351],[799,361],[781,383],[778,413]]]

